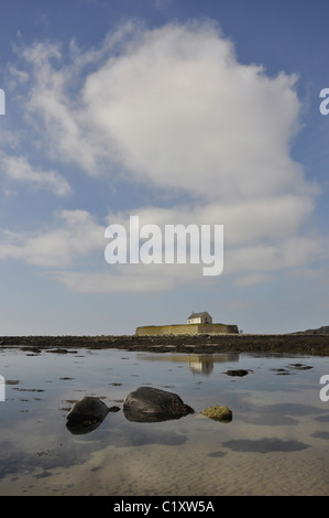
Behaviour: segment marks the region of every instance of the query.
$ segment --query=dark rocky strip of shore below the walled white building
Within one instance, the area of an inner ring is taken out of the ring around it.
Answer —
[[[0,336],[0,352],[7,347],[32,352],[72,353],[77,348],[117,348],[153,353],[262,353],[329,356],[329,335],[221,334],[221,335],[101,335],[101,336]]]

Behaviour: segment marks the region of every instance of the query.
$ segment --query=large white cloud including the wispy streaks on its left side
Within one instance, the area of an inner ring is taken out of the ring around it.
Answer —
[[[309,188],[289,157],[297,77],[241,65],[213,23],[129,23],[98,51],[73,44],[69,65],[55,45],[23,54],[35,78],[30,115],[43,120],[54,153],[89,173],[109,159],[134,179],[212,201]]]

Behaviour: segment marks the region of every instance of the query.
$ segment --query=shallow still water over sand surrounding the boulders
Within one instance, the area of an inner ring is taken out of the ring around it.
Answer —
[[[1,496],[329,495],[328,357],[7,348],[0,375]],[[123,399],[140,386],[176,392],[195,413],[128,421]],[[76,435],[66,414],[84,396],[120,411]],[[232,421],[200,414],[212,404]]]

